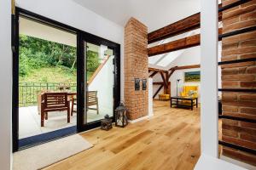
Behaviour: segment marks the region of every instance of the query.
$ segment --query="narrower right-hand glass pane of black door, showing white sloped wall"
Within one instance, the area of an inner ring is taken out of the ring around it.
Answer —
[[[84,122],[98,122],[105,115],[113,116],[114,67],[113,49],[84,43]]]

